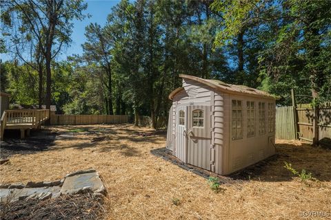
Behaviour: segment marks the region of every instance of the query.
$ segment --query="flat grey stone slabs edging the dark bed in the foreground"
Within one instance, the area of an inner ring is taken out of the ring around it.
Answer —
[[[28,182],[28,184],[0,185],[1,201],[24,199],[50,199],[60,195],[92,193],[95,197],[106,195],[106,188],[96,170],[79,170],[56,181]]]

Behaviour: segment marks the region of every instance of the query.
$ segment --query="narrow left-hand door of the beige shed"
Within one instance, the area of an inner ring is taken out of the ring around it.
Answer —
[[[175,155],[181,161],[186,162],[186,128],[187,128],[187,107],[177,107],[176,113],[176,152]]]

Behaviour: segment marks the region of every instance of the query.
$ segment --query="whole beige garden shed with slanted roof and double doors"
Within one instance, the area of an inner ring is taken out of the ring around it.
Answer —
[[[265,91],[190,75],[169,95],[167,148],[220,175],[274,154],[275,98]]]

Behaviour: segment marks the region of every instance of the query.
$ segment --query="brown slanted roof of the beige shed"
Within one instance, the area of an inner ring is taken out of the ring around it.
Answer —
[[[261,91],[259,89],[254,89],[251,87],[246,87],[245,85],[232,85],[228,83],[224,83],[221,80],[206,80],[203,78],[199,78],[197,76],[190,76],[185,74],[179,74],[179,77],[185,78],[188,80],[194,80],[204,85],[208,85],[213,89],[217,89],[227,94],[234,94],[234,95],[241,95],[241,96],[253,96],[253,97],[260,97],[260,98],[272,98],[275,99],[274,96],[268,94],[266,91]],[[174,89],[172,93],[169,95],[169,99],[172,100],[176,94],[180,91],[183,91],[183,87],[179,87]]]

